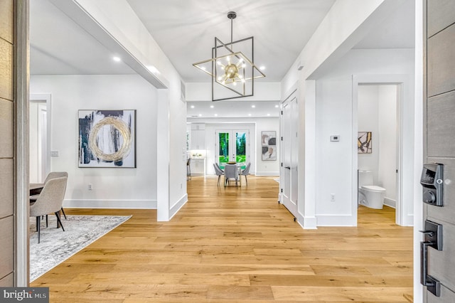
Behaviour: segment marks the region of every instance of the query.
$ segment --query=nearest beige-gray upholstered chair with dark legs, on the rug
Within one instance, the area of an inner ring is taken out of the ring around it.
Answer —
[[[30,216],[36,217],[36,230],[38,231],[38,243],[40,243],[41,216],[55,213],[57,221],[63,228],[60,220],[60,209],[62,208],[63,198],[65,197],[66,181],[68,177],[62,176],[49,179],[43,187],[43,191],[36,198],[36,202],[30,206]]]

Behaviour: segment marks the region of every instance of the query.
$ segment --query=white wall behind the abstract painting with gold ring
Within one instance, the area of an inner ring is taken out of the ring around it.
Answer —
[[[156,89],[138,75],[31,76],[52,97],[52,171],[68,171],[64,206],[156,208]],[[137,110],[136,169],[78,168],[78,110]],[[88,184],[93,189],[89,191]]]

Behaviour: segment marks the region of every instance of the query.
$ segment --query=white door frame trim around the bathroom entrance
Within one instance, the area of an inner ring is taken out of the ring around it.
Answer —
[[[410,159],[410,154],[414,150],[414,100],[410,97],[412,88],[412,78],[408,75],[353,75],[353,139],[357,139],[358,134],[358,85],[398,85],[400,96],[397,98],[397,118],[398,118],[398,157],[397,157],[397,203],[395,211],[395,223],[397,225],[413,225],[413,180],[414,180],[414,159]],[[404,133],[405,129],[410,135]],[[352,144],[352,196],[357,197],[357,171],[358,153],[357,142]],[[403,154],[407,152],[407,159]],[[406,181],[405,181],[406,180]],[[358,201],[353,198],[353,217],[357,221]]]

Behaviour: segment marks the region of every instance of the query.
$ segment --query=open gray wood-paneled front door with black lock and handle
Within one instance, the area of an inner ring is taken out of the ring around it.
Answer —
[[[455,1],[427,0],[424,12],[424,162],[441,164],[442,192],[423,195],[424,229],[439,226],[440,245],[434,232],[422,237],[421,280],[424,302],[455,302]]]

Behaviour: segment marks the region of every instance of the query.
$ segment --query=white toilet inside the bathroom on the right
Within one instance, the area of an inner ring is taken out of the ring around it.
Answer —
[[[385,188],[373,185],[372,171],[358,171],[358,203],[369,208],[382,209]]]

